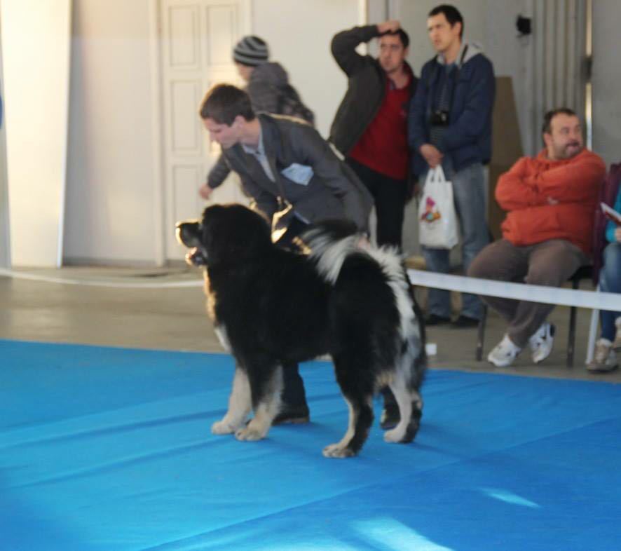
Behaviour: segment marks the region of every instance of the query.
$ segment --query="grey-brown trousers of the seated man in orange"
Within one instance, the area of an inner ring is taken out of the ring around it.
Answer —
[[[468,275],[531,285],[561,287],[589,259],[578,247],[564,239],[550,239],[516,247],[501,239],[487,245],[472,261]],[[528,338],[539,329],[553,304],[517,301],[500,297],[482,297],[483,301],[507,320],[509,338],[524,348]]]

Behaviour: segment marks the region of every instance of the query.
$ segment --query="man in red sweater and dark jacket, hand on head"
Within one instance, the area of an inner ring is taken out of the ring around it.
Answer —
[[[360,43],[379,39],[379,55]],[[396,20],[353,27],[332,39],[332,55],[348,77],[329,142],[346,157],[374,198],[378,245],[401,247],[407,201],[407,111],[418,79],[406,61],[409,36]]]

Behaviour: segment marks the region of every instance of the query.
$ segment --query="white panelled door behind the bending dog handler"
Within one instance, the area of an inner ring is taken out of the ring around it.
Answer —
[[[249,33],[250,0],[161,0],[160,6],[165,257],[176,260],[186,251],[175,240],[175,222],[200,216],[205,201],[198,189],[219,156],[199,104],[215,83],[243,85],[232,53]],[[235,175],[212,198],[247,203]]]

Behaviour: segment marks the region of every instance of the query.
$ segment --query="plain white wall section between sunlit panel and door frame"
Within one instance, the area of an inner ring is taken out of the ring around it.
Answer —
[[[68,262],[155,262],[149,4],[74,0]]]

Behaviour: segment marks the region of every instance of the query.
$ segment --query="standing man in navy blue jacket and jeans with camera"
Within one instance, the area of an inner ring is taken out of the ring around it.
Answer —
[[[453,198],[463,237],[463,268],[489,243],[483,165],[491,157],[491,112],[495,81],[491,62],[474,43],[463,41],[463,18],[453,6],[432,9],[427,20],[437,55],[425,65],[412,100],[408,139],[412,169],[425,181],[427,171],[442,165],[453,182]],[[423,247],[430,271],[448,273],[449,250]],[[453,327],[477,325],[482,303],[463,294],[462,312]],[[432,289],[428,325],[451,321],[449,291]]]

